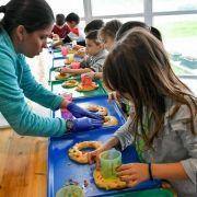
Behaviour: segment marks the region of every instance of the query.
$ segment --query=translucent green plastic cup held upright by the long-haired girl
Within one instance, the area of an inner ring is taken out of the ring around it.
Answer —
[[[104,151],[100,154],[101,174],[104,178],[117,177],[116,169],[121,165],[121,152],[116,149]]]

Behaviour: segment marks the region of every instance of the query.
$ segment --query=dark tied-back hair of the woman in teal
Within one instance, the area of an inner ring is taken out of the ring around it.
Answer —
[[[54,13],[45,0],[11,0],[0,7],[4,13],[1,26],[11,35],[19,25],[28,33],[43,30],[54,23]]]

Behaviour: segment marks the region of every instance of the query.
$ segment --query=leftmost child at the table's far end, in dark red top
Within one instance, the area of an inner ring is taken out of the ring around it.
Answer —
[[[65,24],[63,14],[56,15],[56,24],[54,25],[53,33],[57,34],[59,38],[65,38],[70,33],[68,25]]]

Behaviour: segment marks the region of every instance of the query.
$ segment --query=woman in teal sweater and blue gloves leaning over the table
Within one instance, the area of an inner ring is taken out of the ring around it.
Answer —
[[[44,0],[11,0],[0,7],[0,112],[20,135],[62,136],[66,131],[102,126],[102,118],[69,103],[38,84],[25,57],[33,58],[46,47],[54,14]],[[25,96],[53,111],[67,107],[73,120],[42,117],[31,111]]]

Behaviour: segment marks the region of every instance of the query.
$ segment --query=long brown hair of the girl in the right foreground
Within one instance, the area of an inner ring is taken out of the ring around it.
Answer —
[[[178,103],[171,114],[172,117],[181,104],[188,106],[190,128],[195,134],[196,97],[174,74],[162,43],[144,28],[136,27],[116,43],[105,60],[103,78],[109,90],[118,91],[121,95],[127,94],[134,102],[135,128],[141,128],[140,135],[148,146],[162,129],[166,112],[165,99]],[[152,114],[154,120],[152,136],[144,131],[143,118],[148,114]]]

